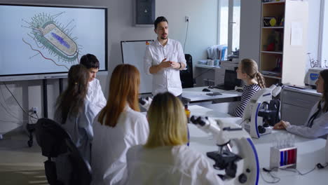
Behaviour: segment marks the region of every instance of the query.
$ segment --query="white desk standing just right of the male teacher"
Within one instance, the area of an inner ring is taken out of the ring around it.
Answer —
[[[202,90],[207,88],[210,92],[203,92]],[[210,96],[206,95],[207,93],[221,93],[222,95],[215,95]],[[198,88],[184,88],[182,90],[182,97],[184,100],[195,103],[195,102],[211,102],[213,100],[220,100],[220,102],[233,102],[237,101],[238,98],[242,95],[235,90],[221,90],[217,88],[208,88],[205,87],[198,87]]]

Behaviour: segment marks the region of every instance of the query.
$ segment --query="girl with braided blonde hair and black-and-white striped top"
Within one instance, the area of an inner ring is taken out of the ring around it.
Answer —
[[[242,80],[245,85],[242,91],[240,103],[233,111],[233,116],[242,117],[247,103],[250,102],[252,96],[261,88],[266,87],[263,76],[259,72],[257,62],[252,59],[243,59],[237,69],[237,78]]]

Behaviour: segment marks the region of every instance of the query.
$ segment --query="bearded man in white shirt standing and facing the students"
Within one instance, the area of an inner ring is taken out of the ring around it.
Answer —
[[[168,20],[156,18],[153,23],[157,39],[146,48],[144,69],[153,75],[153,95],[170,92],[182,97],[179,70],[186,68],[186,59],[181,43],[168,39]]]

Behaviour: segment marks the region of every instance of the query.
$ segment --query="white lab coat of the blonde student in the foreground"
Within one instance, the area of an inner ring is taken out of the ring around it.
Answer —
[[[185,145],[132,146],[127,162],[127,184],[223,184],[206,156]]]

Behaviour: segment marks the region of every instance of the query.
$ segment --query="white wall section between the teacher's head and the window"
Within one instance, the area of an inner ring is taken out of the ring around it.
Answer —
[[[217,44],[217,0],[156,1],[156,15],[168,18],[169,36],[180,41],[182,46],[187,24],[184,17],[189,16],[185,53],[192,55],[193,64],[206,59],[205,49]]]

